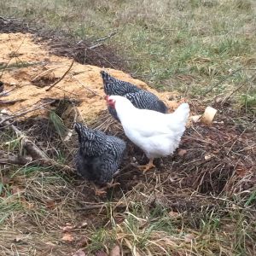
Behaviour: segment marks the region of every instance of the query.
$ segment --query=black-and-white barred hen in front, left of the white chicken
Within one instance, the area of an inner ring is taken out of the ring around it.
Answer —
[[[126,144],[118,137],[108,136],[102,131],[92,130],[79,123],[74,125],[79,135],[79,152],[76,159],[79,175],[96,184],[107,186],[96,189],[96,195],[106,193],[113,187],[113,175],[118,171]]]

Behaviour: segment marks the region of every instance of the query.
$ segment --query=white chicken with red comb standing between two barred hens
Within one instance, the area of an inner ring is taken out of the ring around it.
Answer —
[[[135,143],[149,159],[146,172],[154,167],[154,158],[172,154],[178,147],[189,118],[189,104],[182,103],[174,113],[159,113],[135,108],[123,96],[106,96],[108,106],[116,110],[125,135]]]

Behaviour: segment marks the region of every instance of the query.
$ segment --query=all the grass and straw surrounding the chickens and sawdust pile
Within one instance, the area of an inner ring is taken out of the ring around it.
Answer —
[[[218,108],[217,123],[186,132],[183,155],[156,163],[145,176],[127,166],[134,156],[145,161],[128,143],[120,186],[106,198],[56,166],[0,166],[1,255],[72,255],[79,248],[106,255],[115,244],[123,255],[256,254],[253,1],[12,0],[0,3],[1,12],[92,44],[117,30],[105,44],[125,57],[135,76],[186,92],[193,113],[209,102]],[[55,113],[63,123],[52,114],[15,125],[50,158],[73,166],[77,138],[63,143],[59,135],[73,119]],[[90,125],[124,137],[108,113]],[[26,154],[13,131],[1,130],[0,141],[5,152]]]

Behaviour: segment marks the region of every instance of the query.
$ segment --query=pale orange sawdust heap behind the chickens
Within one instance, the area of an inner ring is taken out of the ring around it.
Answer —
[[[3,33],[0,34],[0,64],[7,65],[3,71],[2,81],[4,90],[10,91],[7,96],[2,96],[5,101],[24,100],[13,105],[4,106],[10,113],[19,113],[21,110],[31,108],[44,98],[71,97],[81,102],[78,106],[79,113],[85,120],[95,119],[106,109],[103,99],[104,91],[101,67],[73,63],[69,73],[56,84],[52,90],[46,91],[49,84],[61,76],[70,67],[72,60],[50,54],[50,49],[45,43],[34,43],[32,34]],[[132,84],[149,90],[159,96],[170,110],[177,108],[178,103],[168,101],[174,93],[159,93],[148,87],[140,80],[132,79],[129,74],[119,70],[107,69],[108,73],[118,79],[129,81]],[[2,72],[2,71],[1,71]],[[84,86],[95,92],[84,89]],[[26,117],[47,114],[47,109],[40,109],[32,113],[26,113]]]

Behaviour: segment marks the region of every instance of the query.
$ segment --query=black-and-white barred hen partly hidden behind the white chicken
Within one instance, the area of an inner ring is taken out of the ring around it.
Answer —
[[[140,109],[154,110],[160,113],[167,113],[168,108],[165,103],[148,90],[142,90],[136,85],[113,78],[105,71],[101,71],[104,91],[107,96],[125,96],[130,102]],[[114,119],[119,121],[116,111],[113,108],[108,108]]]

